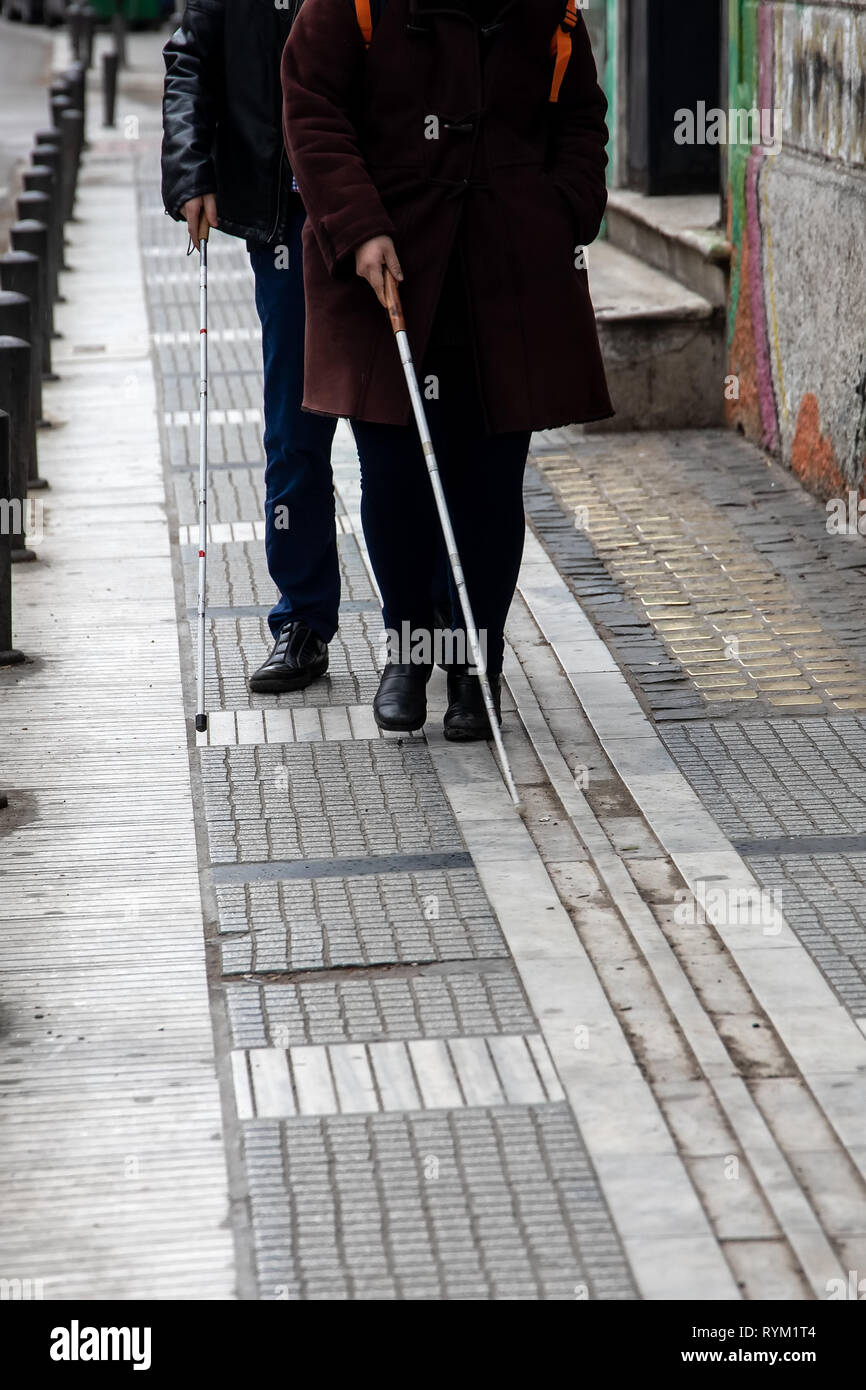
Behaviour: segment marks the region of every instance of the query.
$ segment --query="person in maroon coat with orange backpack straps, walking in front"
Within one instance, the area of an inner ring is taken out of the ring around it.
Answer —
[[[307,207],[304,406],[352,421],[389,657],[379,727],[491,728],[460,605],[431,603],[439,525],[385,303],[406,328],[496,714],[534,430],[610,416],[582,247],[606,204],[606,100],[574,0],[306,0],[282,58]],[[427,634],[425,644],[421,637]]]

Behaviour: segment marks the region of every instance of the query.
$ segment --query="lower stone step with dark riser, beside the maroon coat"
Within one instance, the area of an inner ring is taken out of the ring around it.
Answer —
[[[589,247],[588,267],[616,416],[585,428],[723,424],[721,310],[610,242]]]

